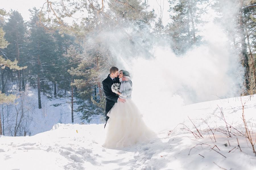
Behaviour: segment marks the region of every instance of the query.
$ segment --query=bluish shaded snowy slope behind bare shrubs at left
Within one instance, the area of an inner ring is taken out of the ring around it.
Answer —
[[[15,126],[19,122],[17,136],[23,136],[24,131],[26,131],[26,135],[36,135],[49,131],[54,124],[71,123],[71,99],[68,97],[49,99],[47,95],[41,94],[42,109],[38,109],[37,95],[36,89],[28,87],[25,92],[17,96],[15,103],[1,105],[5,136],[14,136]],[[74,105],[74,108],[76,109],[77,105]],[[21,117],[21,115],[23,116]],[[95,115],[90,123],[99,124],[103,123],[103,120],[103,116]],[[79,112],[74,112],[74,123],[88,124],[86,120],[80,119]]]

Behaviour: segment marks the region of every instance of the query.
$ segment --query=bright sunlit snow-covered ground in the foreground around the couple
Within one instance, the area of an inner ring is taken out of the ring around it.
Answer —
[[[0,136],[1,169],[256,169],[252,146],[238,135],[245,133],[241,119],[245,101],[245,118],[255,141],[256,97],[245,96],[184,106],[167,118],[179,114],[183,122],[172,122],[170,127],[184,125],[157,131],[156,139],[127,148],[102,147],[104,124],[55,124],[34,136]],[[184,130],[199,135],[187,116],[203,137]],[[227,126],[232,137],[213,130]],[[209,127],[214,135],[204,132]]]

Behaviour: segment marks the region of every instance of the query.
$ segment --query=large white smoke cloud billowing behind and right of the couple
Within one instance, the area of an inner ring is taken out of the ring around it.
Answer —
[[[147,28],[137,32],[131,24],[101,36],[116,66],[131,73],[133,100],[156,130],[183,122],[189,114],[182,112],[183,105],[240,96],[243,67],[224,32],[227,25],[214,23],[212,13],[209,18],[201,25],[204,43],[182,56],[174,54],[172,42],[156,39]]]

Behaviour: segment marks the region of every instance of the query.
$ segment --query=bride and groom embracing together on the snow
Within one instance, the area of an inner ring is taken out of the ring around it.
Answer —
[[[132,82],[128,71],[110,68],[102,81],[106,95],[106,148],[121,148],[145,142],[154,137],[142,119],[142,114],[131,99]]]

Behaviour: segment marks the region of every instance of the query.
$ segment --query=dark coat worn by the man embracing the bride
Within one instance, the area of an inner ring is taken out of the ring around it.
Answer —
[[[120,83],[118,77],[116,77],[115,81],[113,81],[109,75],[105,80],[102,81],[103,91],[106,95],[106,107],[105,107],[106,121],[108,121],[108,118],[109,118],[107,116],[108,112],[110,111],[110,109],[112,109],[114,104],[117,103],[117,99],[118,99],[118,95],[115,94],[114,92],[112,92],[111,86],[114,83]],[[129,80],[129,82],[132,86],[132,82],[130,80]]]

